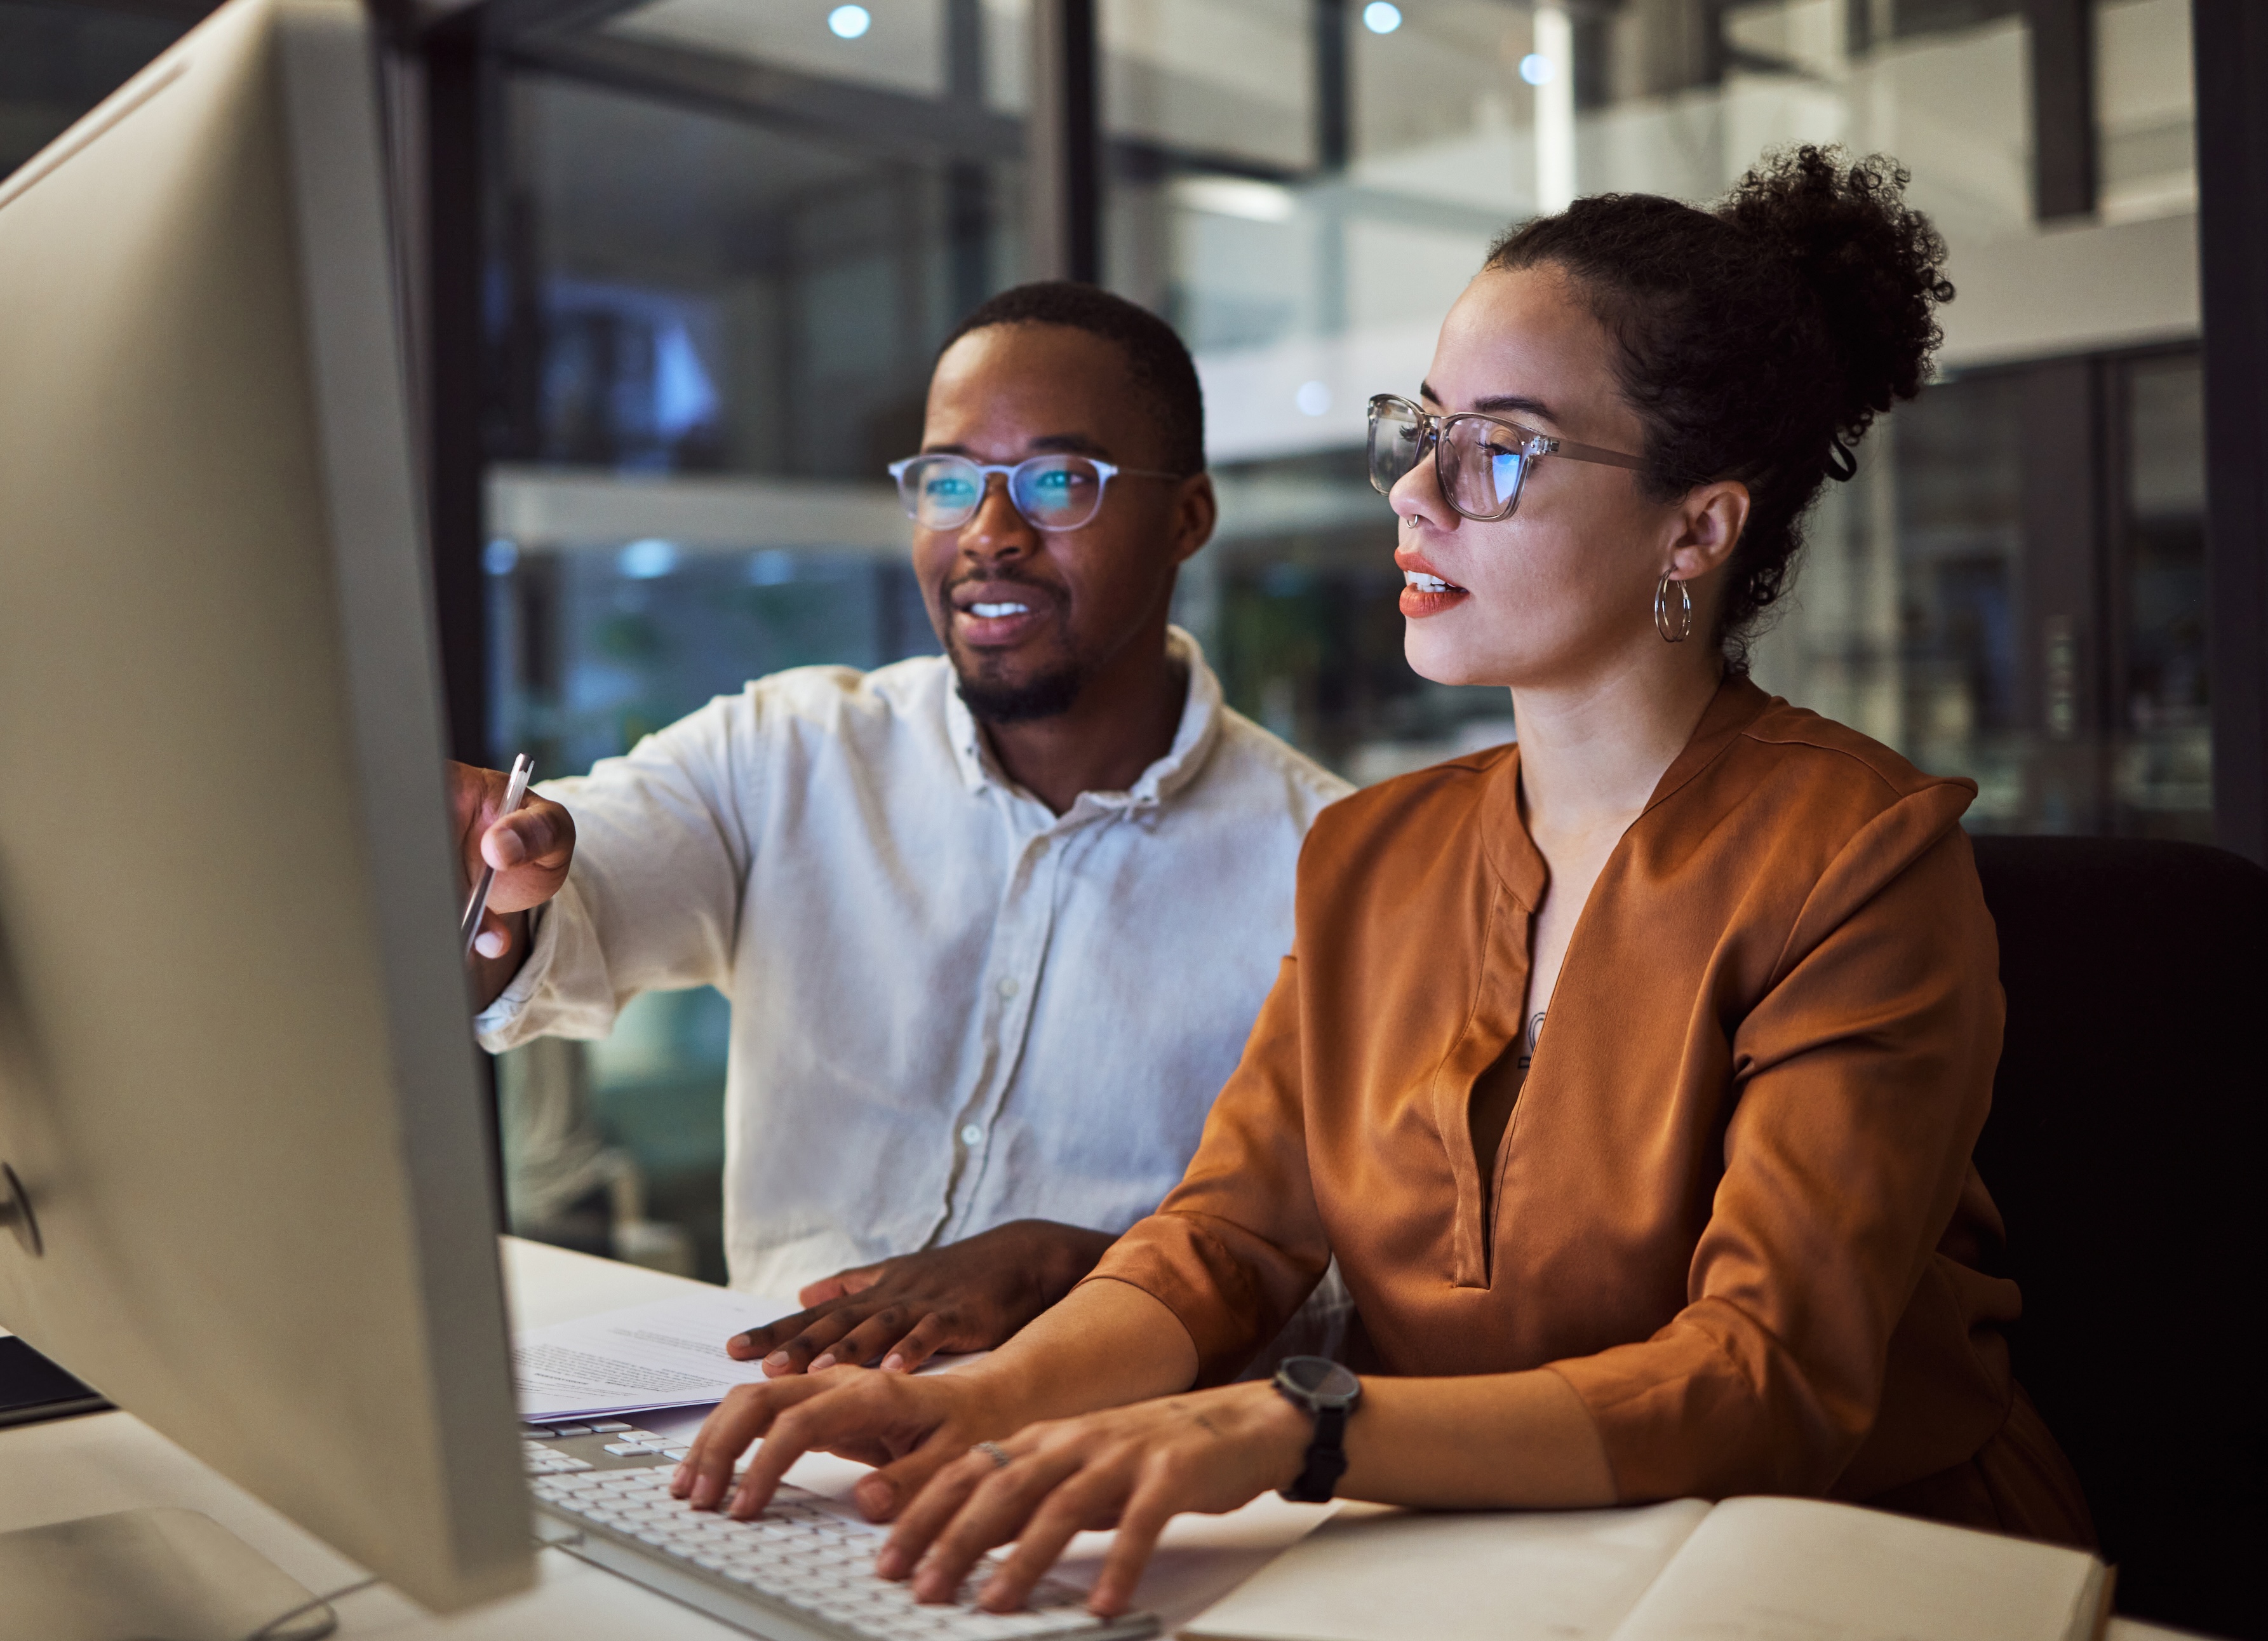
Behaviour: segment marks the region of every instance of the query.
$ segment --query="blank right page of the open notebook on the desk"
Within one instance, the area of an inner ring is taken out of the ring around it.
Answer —
[[[1730,1498],[1619,1641],[2066,1641],[2093,1634],[2080,1550],[1805,1498]]]

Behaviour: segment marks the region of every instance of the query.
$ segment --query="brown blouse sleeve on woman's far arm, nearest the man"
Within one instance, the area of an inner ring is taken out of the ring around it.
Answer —
[[[1163,1303],[1198,1346],[1198,1382],[1222,1385],[1275,1339],[1329,1262],[1306,1171],[1300,967],[1284,958],[1182,1183],[1086,1280],[1129,1282]]]

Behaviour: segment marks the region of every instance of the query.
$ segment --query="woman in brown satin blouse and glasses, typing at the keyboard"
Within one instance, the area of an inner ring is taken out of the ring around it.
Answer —
[[[1975,788],[1742,670],[1953,295],[1903,182],[1805,148],[1715,211],[1581,200],[1492,250],[1422,406],[1374,402],[1372,472],[1411,665],[1508,685],[1520,744],[1322,815],[1204,1144],[1082,1287],[964,1373],[739,1391],[680,1493],[751,1514],[803,1450],[885,1462],[878,1571],[946,1598],[1014,1539],[989,1607],[1116,1523],[1102,1614],[1175,1512],[1334,1480],[2089,1539],[1969,1164],[2000,1051]],[[1334,1253],[1379,1369],[1336,1478],[1336,1416],[1227,1382]]]

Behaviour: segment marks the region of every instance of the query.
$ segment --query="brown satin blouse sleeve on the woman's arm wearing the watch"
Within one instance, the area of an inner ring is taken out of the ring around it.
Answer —
[[[1994,924],[1944,810],[1916,792],[1851,840],[1733,1026],[1724,1176],[1685,1307],[1651,1339],[1551,1364],[1624,1503],[1823,1493],[1873,1425],[2000,1055]]]

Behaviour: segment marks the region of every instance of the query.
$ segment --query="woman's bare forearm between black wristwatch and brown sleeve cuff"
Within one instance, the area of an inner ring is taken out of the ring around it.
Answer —
[[[1583,1398],[1547,1369],[1365,1378],[1338,1493],[1420,1509],[1581,1509],[1615,1503],[1615,1473]]]

